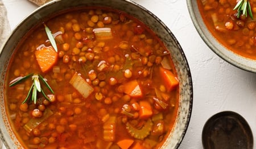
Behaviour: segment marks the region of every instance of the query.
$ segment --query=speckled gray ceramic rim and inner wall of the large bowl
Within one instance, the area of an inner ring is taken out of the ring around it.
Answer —
[[[163,24],[155,15],[150,11],[139,6],[137,3],[131,1],[120,1],[120,0],[86,0],[86,1],[52,1],[47,5],[39,7],[31,15],[27,16],[11,33],[10,37],[2,46],[2,52],[0,55],[0,134],[3,142],[7,148],[23,148],[16,139],[13,131],[11,130],[10,124],[6,117],[5,104],[4,104],[4,80],[6,75],[7,65],[10,60],[10,56],[13,54],[16,45],[19,40],[36,24],[42,24],[44,19],[49,18],[48,16],[59,13],[60,11],[71,9],[72,7],[80,6],[104,6],[112,7],[112,9],[118,9],[125,11],[126,13],[135,16],[135,18],[141,20],[144,24],[151,28],[152,31],[162,39],[163,43],[170,50],[172,59],[175,64],[175,68],[180,80],[180,102],[178,117],[175,122],[174,129],[168,136],[166,142],[164,142],[162,148],[177,148],[179,147],[181,140],[183,139],[185,132],[187,131],[189,119],[192,111],[192,78],[185,58],[184,52],[177,42],[172,32]]]

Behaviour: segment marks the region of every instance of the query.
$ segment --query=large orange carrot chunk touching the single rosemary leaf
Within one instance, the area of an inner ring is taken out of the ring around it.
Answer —
[[[51,47],[42,47],[35,51],[36,60],[42,72],[47,72],[57,63],[57,52]]]

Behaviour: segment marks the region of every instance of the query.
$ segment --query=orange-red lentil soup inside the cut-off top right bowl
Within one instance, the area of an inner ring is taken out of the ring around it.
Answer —
[[[214,38],[234,53],[256,59],[256,21],[233,10],[237,1],[197,0],[201,16]],[[256,1],[250,1],[256,17]]]

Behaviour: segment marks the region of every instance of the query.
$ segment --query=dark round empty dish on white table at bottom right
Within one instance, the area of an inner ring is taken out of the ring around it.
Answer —
[[[246,120],[233,111],[222,111],[210,117],[202,133],[205,149],[252,149],[253,134]]]

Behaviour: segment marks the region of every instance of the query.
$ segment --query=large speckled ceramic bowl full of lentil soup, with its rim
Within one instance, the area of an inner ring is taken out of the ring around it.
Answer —
[[[53,1],[3,44],[7,148],[177,148],[192,110],[171,31],[131,1]]]

